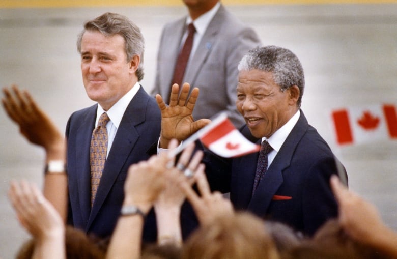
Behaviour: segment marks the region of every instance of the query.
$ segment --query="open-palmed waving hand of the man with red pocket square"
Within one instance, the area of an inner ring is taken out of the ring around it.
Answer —
[[[179,86],[174,84],[169,98],[169,106],[165,105],[160,95],[156,95],[157,104],[161,111],[160,148],[166,148],[169,140],[173,138],[179,141],[188,138],[211,122],[209,119],[194,121],[192,112],[199,91],[198,88],[194,88],[188,96],[189,90],[190,85],[184,83],[179,95]]]

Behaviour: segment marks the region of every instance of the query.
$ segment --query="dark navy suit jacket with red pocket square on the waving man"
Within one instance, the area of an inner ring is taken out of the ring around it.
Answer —
[[[254,138],[246,126],[241,131],[260,145],[261,139]],[[237,210],[286,223],[306,235],[313,235],[327,219],[337,216],[329,186],[330,176],[337,173],[335,157],[302,111],[252,195],[258,155],[214,159],[208,154],[205,161],[211,189],[230,191]]]

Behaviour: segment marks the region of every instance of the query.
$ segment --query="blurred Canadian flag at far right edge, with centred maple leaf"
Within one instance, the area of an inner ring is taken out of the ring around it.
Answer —
[[[394,104],[352,106],[332,111],[339,145],[397,139]]]

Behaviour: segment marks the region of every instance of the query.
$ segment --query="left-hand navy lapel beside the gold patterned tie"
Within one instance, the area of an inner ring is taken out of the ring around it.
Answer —
[[[78,199],[81,215],[88,220],[91,211],[91,165],[90,165],[90,145],[91,136],[95,127],[97,105],[92,106],[84,116],[78,134],[76,136],[76,161],[81,161],[77,168]]]

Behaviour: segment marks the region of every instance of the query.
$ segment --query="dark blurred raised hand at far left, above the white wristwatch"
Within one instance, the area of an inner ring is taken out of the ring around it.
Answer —
[[[2,102],[8,116],[18,124],[27,140],[42,146],[47,153],[64,149],[63,135],[27,91],[13,85],[10,89],[4,88],[3,93]]]

